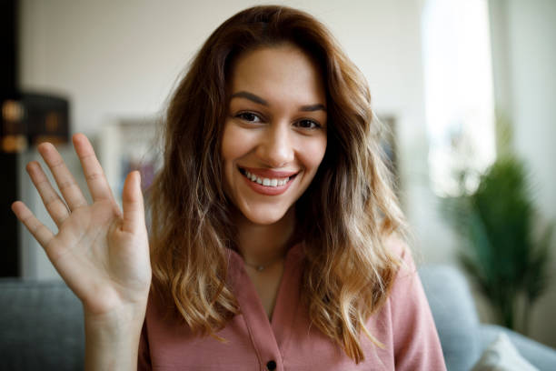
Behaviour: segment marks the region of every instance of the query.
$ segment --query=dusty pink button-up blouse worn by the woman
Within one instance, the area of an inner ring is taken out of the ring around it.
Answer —
[[[382,308],[367,328],[384,345],[362,336],[365,359],[358,365],[315,326],[300,300],[303,246],[285,260],[272,320],[269,321],[241,256],[232,252],[230,284],[241,314],[218,336],[194,336],[187,326],[162,320],[149,300],[139,345],[139,370],[445,370],[431,310],[410,253]]]

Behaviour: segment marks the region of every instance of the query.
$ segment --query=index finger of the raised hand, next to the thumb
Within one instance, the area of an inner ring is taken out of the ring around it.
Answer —
[[[93,145],[91,145],[89,139],[83,134],[75,134],[73,140],[75,153],[77,153],[83,167],[83,173],[93,200],[114,201],[110,185],[108,185],[102,166],[94,155]]]

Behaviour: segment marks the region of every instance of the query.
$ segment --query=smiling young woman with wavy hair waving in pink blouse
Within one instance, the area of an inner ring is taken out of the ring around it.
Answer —
[[[362,75],[312,16],[258,6],[195,56],[164,167],[123,212],[84,135],[87,205],[53,145],[15,214],[84,305],[88,369],[444,369]],[[149,254],[150,247],[150,254]]]

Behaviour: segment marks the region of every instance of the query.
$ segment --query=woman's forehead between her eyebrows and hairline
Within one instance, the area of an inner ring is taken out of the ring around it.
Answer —
[[[264,46],[240,55],[232,66],[229,88],[231,94],[288,95],[311,104],[324,104],[326,96],[321,69],[292,44]]]

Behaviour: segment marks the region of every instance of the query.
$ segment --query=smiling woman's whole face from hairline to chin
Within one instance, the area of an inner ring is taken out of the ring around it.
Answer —
[[[303,195],[323,160],[323,78],[308,55],[284,44],[240,56],[230,82],[224,189],[248,220],[270,225]]]

